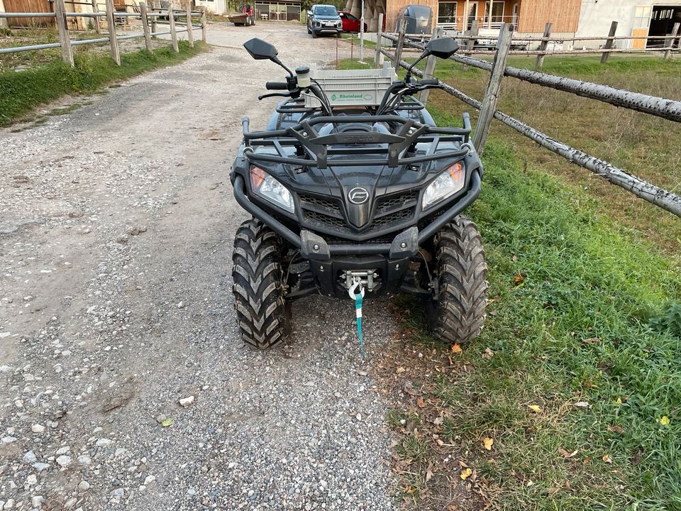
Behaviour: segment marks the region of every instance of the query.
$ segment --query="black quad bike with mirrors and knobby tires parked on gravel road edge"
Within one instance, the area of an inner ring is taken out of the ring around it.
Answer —
[[[308,67],[293,73],[258,38],[244,47],[288,72],[286,82],[266,86],[282,92],[258,99],[288,99],[267,131],[250,131],[243,119],[231,169],[234,196],[253,215],[234,240],[243,340],[261,349],[279,343],[290,331],[291,302],[317,292],[406,292],[425,302],[441,339],[475,338],[485,321],[487,265],[477,226],[461,215],[482,181],[468,115],[463,128],[436,126],[414,94],[441,85],[414,79],[411,68],[375,104],[339,106]],[[451,38],[431,40],[419,60],[457,49]]]

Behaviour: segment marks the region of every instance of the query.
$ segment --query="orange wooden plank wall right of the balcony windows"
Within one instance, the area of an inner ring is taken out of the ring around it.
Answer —
[[[518,31],[543,32],[546,23],[553,23],[553,33],[575,32],[581,6],[582,0],[523,0]]]

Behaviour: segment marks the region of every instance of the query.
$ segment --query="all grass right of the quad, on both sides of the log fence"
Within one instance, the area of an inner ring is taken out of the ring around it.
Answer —
[[[557,75],[672,97],[665,91],[676,87],[678,97],[679,69],[678,62],[646,58],[600,66],[594,57],[569,57],[544,65]],[[488,75],[445,62],[438,76],[480,98]],[[629,158],[625,167],[645,166],[660,180],[679,182],[680,167],[668,165],[681,155],[677,124],[636,114],[626,143],[612,150],[613,137],[588,143],[589,130],[621,110],[595,101],[587,109],[587,100],[524,84],[504,87],[501,108],[509,114],[533,124],[541,113],[540,127],[560,132],[560,140],[581,141],[597,155],[611,151]],[[461,104],[433,96],[428,108],[438,124],[460,124]],[[580,130],[585,124],[589,129]],[[662,125],[664,133],[647,138]],[[645,218],[638,209],[623,211],[622,201],[638,199],[609,186],[594,192],[594,178],[584,186],[587,171],[572,167],[566,176],[567,163],[498,124],[483,162],[482,194],[467,211],[480,227],[489,265],[491,303],[481,336],[451,353],[425,333],[414,300],[396,300],[414,346],[395,365],[411,368],[417,364],[404,357],[431,353],[421,373],[409,374],[424,380],[426,407],[395,397],[399,404],[389,414],[402,434],[399,458],[419,456],[403,476],[423,499],[411,507],[443,509],[450,502],[440,497],[447,488],[426,483],[428,462],[448,476],[450,488],[466,488],[450,456],[475,469],[485,495],[464,490],[457,510],[681,510],[681,260],[673,249],[681,221],[648,204],[641,204]],[[424,419],[426,455],[399,422],[410,414]],[[430,425],[433,415],[443,417],[441,426]],[[491,451],[482,449],[485,437],[494,440]]]

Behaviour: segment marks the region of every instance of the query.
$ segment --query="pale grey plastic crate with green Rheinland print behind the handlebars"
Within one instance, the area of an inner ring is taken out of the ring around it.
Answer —
[[[310,75],[326,93],[331,106],[378,106],[397,79],[389,62],[384,62],[383,69],[371,70],[318,70],[311,65]],[[319,99],[312,94],[304,96],[305,106],[320,106]]]

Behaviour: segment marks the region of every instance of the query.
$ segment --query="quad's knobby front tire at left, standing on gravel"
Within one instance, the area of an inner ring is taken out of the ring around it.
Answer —
[[[234,307],[246,344],[272,348],[291,330],[290,304],[282,284],[283,241],[258,220],[243,222],[234,238]]]

